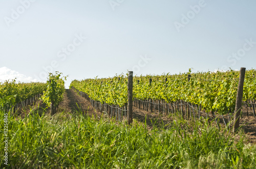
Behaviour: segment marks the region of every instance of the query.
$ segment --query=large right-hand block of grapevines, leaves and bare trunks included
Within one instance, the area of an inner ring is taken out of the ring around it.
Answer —
[[[246,71],[243,102],[255,117],[256,70]],[[133,78],[134,105],[151,112],[180,113],[185,119],[212,116],[230,121],[234,115],[239,71],[147,75]],[[127,77],[74,80],[71,88],[111,117],[123,119],[127,112]],[[224,117],[223,115],[226,115]]]

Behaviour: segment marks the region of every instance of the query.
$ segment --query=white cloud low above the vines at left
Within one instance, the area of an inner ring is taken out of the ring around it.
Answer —
[[[2,67],[0,68],[0,82],[4,82],[5,80],[9,80],[9,79],[15,79],[16,81],[20,81],[20,82],[37,82],[39,80],[33,78],[33,77],[27,77],[24,74],[20,74],[19,72],[15,71],[15,70],[11,70],[7,67]]]

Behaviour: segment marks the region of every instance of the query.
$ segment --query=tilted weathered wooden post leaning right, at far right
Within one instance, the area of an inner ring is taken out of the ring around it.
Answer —
[[[239,128],[240,113],[242,108],[243,89],[244,89],[245,68],[240,69],[240,76],[238,82],[238,93],[236,100],[236,108],[234,109],[233,132]]]

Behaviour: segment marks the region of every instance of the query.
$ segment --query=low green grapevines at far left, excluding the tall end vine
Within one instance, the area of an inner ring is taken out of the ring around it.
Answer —
[[[42,94],[45,90],[46,83],[22,83],[15,80],[7,80],[4,83],[0,83],[0,107],[9,109],[20,102]]]

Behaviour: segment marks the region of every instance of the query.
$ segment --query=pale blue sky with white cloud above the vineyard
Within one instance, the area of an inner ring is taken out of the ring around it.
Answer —
[[[0,0],[0,81],[256,68],[254,0]]]

